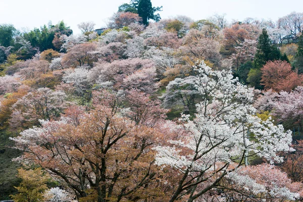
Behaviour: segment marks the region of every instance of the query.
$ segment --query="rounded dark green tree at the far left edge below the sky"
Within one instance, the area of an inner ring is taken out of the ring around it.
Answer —
[[[16,28],[11,24],[0,25],[0,45],[8,47],[14,45],[14,37],[18,34]]]

